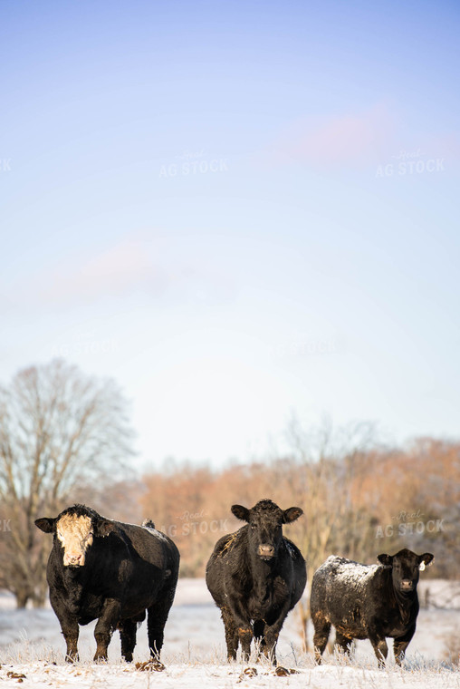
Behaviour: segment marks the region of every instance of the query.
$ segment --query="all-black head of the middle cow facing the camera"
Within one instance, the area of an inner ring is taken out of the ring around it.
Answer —
[[[300,507],[281,509],[272,500],[260,500],[252,509],[233,505],[235,517],[247,521],[247,539],[250,548],[260,558],[271,560],[278,553],[283,539],[283,524],[298,519],[303,511]]]

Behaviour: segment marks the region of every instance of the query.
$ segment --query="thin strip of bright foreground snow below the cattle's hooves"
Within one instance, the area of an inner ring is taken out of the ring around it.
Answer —
[[[254,665],[252,666],[254,667]],[[24,689],[79,687],[81,689],[458,689],[460,674],[455,669],[414,668],[411,670],[369,670],[345,665],[299,667],[297,674],[276,676],[269,668],[257,667],[257,674],[244,674],[242,665],[171,664],[163,673],[137,671],[128,665],[50,665],[34,662],[0,668],[2,686],[22,680]],[[7,676],[14,673],[16,676]],[[24,677],[17,677],[23,674]]]

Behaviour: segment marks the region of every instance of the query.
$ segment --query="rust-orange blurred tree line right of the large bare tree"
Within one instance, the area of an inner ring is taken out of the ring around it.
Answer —
[[[460,443],[418,439],[309,459],[292,454],[221,470],[182,465],[147,473],[142,515],[157,516],[180,549],[181,573],[203,577],[216,539],[242,526],[230,513],[271,498],[303,515],[284,527],[308,577],[331,554],[375,563],[401,548],[436,555],[436,577],[455,578],[460,554]]]

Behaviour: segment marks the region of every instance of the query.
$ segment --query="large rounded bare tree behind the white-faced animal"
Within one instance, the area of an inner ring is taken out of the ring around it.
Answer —
[[[34,526],[85,482],[113,478],[132,453],[126,402],[111,380],[62,360],[19,371],[0,386],[0,586],[18,607],[43,605],[49,542]],[[6,526],[6,528],[5,528]]]

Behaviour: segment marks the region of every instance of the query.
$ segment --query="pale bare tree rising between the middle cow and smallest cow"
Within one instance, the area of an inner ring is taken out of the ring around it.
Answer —
[[[370,422],[350,423],[335,429],[331,418],[304,431],[292,416],[286,430],[292,448],[279,481],[288,481],[297,496],[304,519],[296,525],[298,544],[307,561],[307,592],[314,571],[332,552],[347,557],[361,554],[369,532],[369,517],[356,504],[351,490],[359,479],[359,459],[375,444],[375,427]],[[289,464],[291,463],[291,467]],[[299,615],[305,649],[309,606],[300,602]]]

